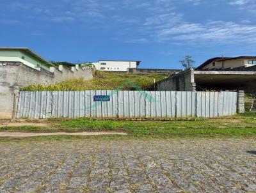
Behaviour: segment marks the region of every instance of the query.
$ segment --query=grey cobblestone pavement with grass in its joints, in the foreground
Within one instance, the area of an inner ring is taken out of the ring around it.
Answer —
[[[255,139],[0,142],[0,192],[256,192]]]

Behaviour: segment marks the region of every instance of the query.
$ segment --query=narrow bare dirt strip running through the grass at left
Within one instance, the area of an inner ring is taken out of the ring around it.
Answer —
[[[35,136],[49,136],[49,135],[127,135],[124,132],[55,132],[55,133],[25,133],[25,132],[0,132],[0,137],[35,137]]]

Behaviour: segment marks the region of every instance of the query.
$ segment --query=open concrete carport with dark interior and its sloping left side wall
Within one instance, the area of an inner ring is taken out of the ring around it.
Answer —
[[[248,70],[248,71],[246,71]],[[237,91],[256,93],[256,69],[189,70],[156,82],[156,91]]]

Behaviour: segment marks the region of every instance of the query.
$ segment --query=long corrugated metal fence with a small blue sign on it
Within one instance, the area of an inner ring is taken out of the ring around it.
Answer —
[[[108,102],[93,96],[109,95]],[[236,92],[21,91],[17,118],[175,118],[230,116]]]

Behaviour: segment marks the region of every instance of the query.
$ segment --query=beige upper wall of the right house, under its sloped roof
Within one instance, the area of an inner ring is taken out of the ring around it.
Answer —
[[[249,61],[252,61],[253,59],[230,59],[230,60],[226,60],[224,61],[224,69],[225,68],[237,68],[237,67],[241,67],[241,66],[245,66],[245,67],[249,67],[249,66],[253,66],[256,65],[256,60],[255,60],[255,64],[249,64]],[[222,61],[215,61],[210,63],[209,65],[204,66],[203,70],[205,69],[221,69],[223,65]]]

